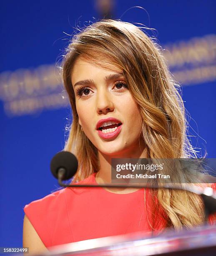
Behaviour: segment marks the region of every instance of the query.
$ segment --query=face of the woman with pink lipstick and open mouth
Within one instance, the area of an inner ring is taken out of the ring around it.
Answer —
[[[93,145],[108,155],[133,152],[142,143],[141,116],[121,73],[118,68],[103,69],[81,57],[71,73],[79,124]],[[111,119],[102,120],[106,118]]]

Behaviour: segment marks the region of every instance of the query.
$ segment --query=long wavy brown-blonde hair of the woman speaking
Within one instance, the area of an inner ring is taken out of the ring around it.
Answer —
[[[64,150],[78,158],[74,179],[83,180],[99,170],[98,149],[81,131],[75,106],[71,71],[75,60],[82,56],[103,68],[109,63],[123,71],[128,88],[136,101],[143,121],[142,136],[148,158],[196,158],[196,150],[187,138],[186,113],[180,85],[168,70],[163,50],[141,28],[121,20],[100,20],[80,29],[63,57],[63,83],[73,110]],[[171,170],[171,172],[173,172]],[[167,174],[167,173],[166,173]],[[171,177],[176,177],[172,175]],[[187,177],[191,182],[192,177]],[[173,182],[179,182],[178,179]],[[174,189],[152,189],[152,200],[145,200],[149,224],[153,230],[175,229],[201,225],[203,203],[199,196]],[[161,222],[161,218],[165,222]],[[160,221],[159,221],[160,220]],[[166,223],[165,226],[162,223]]]

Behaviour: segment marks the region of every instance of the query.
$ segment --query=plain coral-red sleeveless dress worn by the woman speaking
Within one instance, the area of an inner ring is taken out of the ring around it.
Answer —
[[[97,184],[95,173],[78,184],[82,183]],[[25,205],[24,212],[47,248],[136,231],[149,232],[144,192],[148,199],[148,189],[116,194],[101,187],[67,187]],[[162,215],[158,219],[161,229],[166,227]]]

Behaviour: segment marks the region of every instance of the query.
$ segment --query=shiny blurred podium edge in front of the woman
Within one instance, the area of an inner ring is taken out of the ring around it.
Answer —
[[[190,230],[165,230],[157,236],[136,232],[95,238],[49,248],[40,254],[63,256],[216,256],[216,225]]]

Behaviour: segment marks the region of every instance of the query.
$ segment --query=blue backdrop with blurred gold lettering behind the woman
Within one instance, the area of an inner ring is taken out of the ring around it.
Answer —
[[[209,158],[216,157],[215,13],[213,0],[118,0],[112,16],[156,29],[182,84],[188,134],[200,156],[206,150]],[[1,3],[0,247],[22,246],[23,207],[58,187],[50,159],[63,149],[71,117],[55,64],[66,34],[99,18],[93,0]]]

